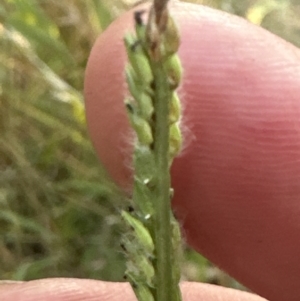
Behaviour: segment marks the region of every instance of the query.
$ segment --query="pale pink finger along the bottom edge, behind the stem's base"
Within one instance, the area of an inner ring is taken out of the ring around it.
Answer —
[[[261,297],[201,283],[183,283],[186,301],[266,301]],[[1,301],[135,301],[128,283],[86,279],[42,279],[1,288]]]

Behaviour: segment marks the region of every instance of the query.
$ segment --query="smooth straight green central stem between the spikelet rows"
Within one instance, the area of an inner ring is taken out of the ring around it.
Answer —
[[[171,233],[171,202],[170,174],[168,166],[169,149],[169,101],[171,94],[167,76],[161,64],[152,66],[155,78],[155,134],[154,158],[157,167],[157,185],[155,198],[155,246],[157,256],[157,300],[175,300],[172,298],[172,233]]]

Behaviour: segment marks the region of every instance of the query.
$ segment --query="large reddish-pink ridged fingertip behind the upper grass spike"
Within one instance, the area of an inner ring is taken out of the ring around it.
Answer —
[[[186,240],[260,295],[300,300],[299,50],[216,10],[178,3],[172,12],[182,36],[186,141],[172,168],[173,207]],[[122,37],[131,18],[97,40],[85,81],[93,143],[123,186],[132,144]]]

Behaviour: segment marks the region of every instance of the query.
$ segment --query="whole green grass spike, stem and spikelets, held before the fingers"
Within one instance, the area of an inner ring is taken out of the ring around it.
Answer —
[[[133,207],[122,217],[130,228],[122,247],[125,277],[139,301],[180,301],[180,227],[171,210],[170,166],[182,145],[181,106],[176,93],[182,67],[178,29],[166,7],[155,1],[147,24],[135,13],[135,34],[124,43],[125,76],[131,96],[127,115],[136,133]]]

